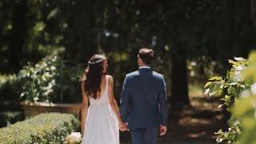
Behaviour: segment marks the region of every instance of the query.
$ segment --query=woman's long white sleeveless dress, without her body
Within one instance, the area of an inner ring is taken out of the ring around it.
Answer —
[[[109,86],[106,78],[104,94],[99,99],[89,98],[82,144],[119,144],[118,119],[109,102]]]

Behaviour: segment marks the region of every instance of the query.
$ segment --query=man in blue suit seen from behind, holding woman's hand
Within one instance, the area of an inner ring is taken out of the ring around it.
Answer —
[[[153,50],[139,50],[139,69],[126,74],[122,87],[122,121],[128,123],[133,144],[155,144],[167,130],[166,83],[150,68],[153,58]]]

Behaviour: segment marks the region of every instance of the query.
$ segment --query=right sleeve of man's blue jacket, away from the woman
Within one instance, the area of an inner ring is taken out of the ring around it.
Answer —
[[[166,82],[164,78],[161,79],[160,92],[159,92],[159,110],[161,115],[161,124],[166,126],[167,124],[167,97],[166,97]]]

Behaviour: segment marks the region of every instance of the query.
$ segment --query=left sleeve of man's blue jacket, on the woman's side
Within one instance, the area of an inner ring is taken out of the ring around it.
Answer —
[[[129,105],[130,105],[130,92],[128,90],[127,85],[128,78],[126,76],[123,86],[122,86],[122,93],[121,93],[121,116],[122,116],[122,122],[128,121],[128,115],[129,115]]]

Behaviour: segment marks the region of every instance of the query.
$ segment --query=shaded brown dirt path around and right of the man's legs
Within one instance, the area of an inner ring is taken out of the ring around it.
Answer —
[[[219,105],[218,98],[198,97],[192,98],[191,106],[183,110],[170,110],[168,133],[158,138],[158,144],[216,143],[214,132],[226,127]],[[121,134],[121,143],[131,143],[129,132]]]

